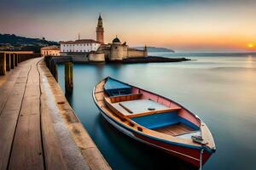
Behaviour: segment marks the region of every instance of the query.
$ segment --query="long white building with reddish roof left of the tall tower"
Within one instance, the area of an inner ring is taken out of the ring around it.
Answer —
[[[60,43],[61,53],[88,53],[90,51],[96,51],[101,46],[101,42],[96,42],[92,39],[80,39]]]

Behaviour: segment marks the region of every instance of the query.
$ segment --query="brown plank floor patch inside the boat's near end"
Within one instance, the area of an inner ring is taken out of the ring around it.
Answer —
[[[194,129],[186,126],[183,123],[177,123],[166,127],[154,128],[155,131],[165,134],[171,134],[173,136],[194,132]]]

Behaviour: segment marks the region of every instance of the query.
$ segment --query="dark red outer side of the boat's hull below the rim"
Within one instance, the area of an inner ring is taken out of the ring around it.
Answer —
[[[209,159],[209,157],[212,155],[211,153],[204,151],[202,153],[202,162],[200,162],[201,150],[192,149],[192,148],[175,145],[175,144],[167,144],[163,141],[160,141],[159,139],[150,138],[141,133],[137,133],[136,131],[132,130],[131,128],[121,125],[119,122],[114,120],[111,116],[108,116],[108,114],[106,114],[104,111],[102,111],[101,108],[98,107],[98,109],[101,112],[102,116],[110,124],[112,124],[113,127],[116,127],[120,132],[125,133],[126,135],[130,136],[132,139],[136,139],[139,142],[148,144],[148,145],[153,146],[154,148],[157,148],[160,150],[164,150],[167,153],[171,154],[172,156],[177,156],[178,158],[182,159],[183,161],[189,162],[190,164],[194,165],[195,167],[200,167],[201,163],[203,165]]]

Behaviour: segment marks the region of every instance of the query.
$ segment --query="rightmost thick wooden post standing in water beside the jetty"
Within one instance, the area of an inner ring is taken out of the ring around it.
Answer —
[[[65,89],[67,93],[73,92],[73,63],[65,63]]]

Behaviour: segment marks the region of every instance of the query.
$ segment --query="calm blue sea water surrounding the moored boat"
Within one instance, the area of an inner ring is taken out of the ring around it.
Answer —
[[[174,56],[174,54],[159,54]],[[113,169],[192,169],[183,161],[119,133],[91,97],[96,82],[114,77],[176,100],[207,123],[217,152],[204,169],[256,169],[256,55],[180,54],[182,63],[74,65],[67,96]],[[64,66],[59,65],[64,90]]]

